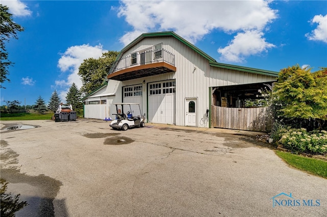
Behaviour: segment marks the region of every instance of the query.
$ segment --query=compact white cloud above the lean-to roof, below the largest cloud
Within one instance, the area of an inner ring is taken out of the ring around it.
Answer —
[[[228,62],[243,62],[245,57],[250,55],[267,52],[268,49],[275,45],[268,43],[263,38],[263,33],[258,30],[238,33],[229,45],[219,48],[218,53],[222,55],[221,59]]]

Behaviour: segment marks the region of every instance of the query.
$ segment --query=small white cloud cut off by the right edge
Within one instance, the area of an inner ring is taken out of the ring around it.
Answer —
[[[311,23],[318,23],[318,26],[316,29],[312,30],[311,33],[307,33],[306,37],[308,37],[309,40],[327,43],[327,14],[325,16],[321,14],[314,16]]]

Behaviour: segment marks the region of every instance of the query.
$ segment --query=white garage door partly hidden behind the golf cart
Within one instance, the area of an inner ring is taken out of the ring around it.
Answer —
[[[123,87],[123,103],[139,103],[139,107],[142,110],[142,84]],[[139,115],[139,111],[136,113]]]

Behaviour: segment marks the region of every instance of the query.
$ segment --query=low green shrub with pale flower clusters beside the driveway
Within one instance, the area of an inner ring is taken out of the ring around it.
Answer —
[[[303,152],[309,154],[325,154],[327,153],[327,131],[311,131],[306,129],[283,129],[279,134],[284,148],[296,153]]]

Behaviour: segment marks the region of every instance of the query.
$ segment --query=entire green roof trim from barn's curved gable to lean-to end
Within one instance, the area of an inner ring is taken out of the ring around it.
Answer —
[[[211,56],[207,55],[198,47],[194,46],[190,42],[186,41],[173,31],[168,31],[168,32],[154,32],[154,33],[144,33],[140,36],[138,36],[136,39],[134,39],[132,42],[130,42],[128,45],[126,45],[123,50],[119,53],[115,64],[117,64],[121,58],[121,56],[133,45],[138,43],[139,41],[143,40],[144,38],[149,38],[149,37],[165,37],[165,36],[172,36],[176,38],[177,40],[181,41],[184,43],[186,46],[189,46],[192,50],[194,50],[196,53],[204,57],[209,61],[209,65],[213,67],[220,67],[220,68],[227,68],[227,69],[233,69],[233,70],[238,70],[238,71],[246,71],[247,73],[253,73],[253,74],[259,74],[259,75],[265,75],[265,76],[272,76],[272,77],[278,77],[278,72],[277,71],[269,71],[269,70],[264,70],[264,69],[258,69],[258,68],[249,68],[249,67],[244,67],[244,66],[238,66],[238,65],[230,65],[230,64],[224,64],[224,63],[219,63],[217,62],[214,58]],[[114,66],[115,67],[115,66]]]

